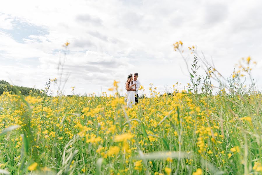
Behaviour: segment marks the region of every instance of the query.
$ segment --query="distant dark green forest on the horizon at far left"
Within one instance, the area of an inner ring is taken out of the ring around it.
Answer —
[[[0,80],[0,95],[3,94],[4,91],[8,91],[11,94],[21,94],[21,95],[29,95],[30,93],[40,93],[40,90],[34,88],[27,88],[23,86],[11,85],[7,81]],[[19,93],[20,92],[20,93]]]

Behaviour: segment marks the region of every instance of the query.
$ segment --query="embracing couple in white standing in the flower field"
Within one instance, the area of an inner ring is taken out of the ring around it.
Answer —
[[[138,73],[130,74],[127,76],[126,90],[127,98],[126,104],[128,108],[132,108],[134,104],[138,103],[138,89],[140,87],[140,81],[138,81]]]

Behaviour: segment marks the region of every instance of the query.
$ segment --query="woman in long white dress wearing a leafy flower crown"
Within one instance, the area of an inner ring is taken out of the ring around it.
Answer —
[[[135,92],[136,91],[130,91],[130,89],[136,89],[136,84],[133,83],[133,74],[130,74],[127,76],[126,81],[126,90],[127,90],[127,100],[126,100],[126,106],[127,108],[132,108],[135,104]]]

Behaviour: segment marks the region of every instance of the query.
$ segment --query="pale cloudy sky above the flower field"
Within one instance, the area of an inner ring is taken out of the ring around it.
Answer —
[[[124,94],[127,76],[137,72],[144,93],[150,83],[161,93],[176,82],[183,89],[190,77],[173,49],[181,40],[189,65],[194,55],[187,47],[195,45],[223,76],[250,56],[261,88],[261,8],[258,0],[5,1],[0,6],[0,79],[43,89],[49,78],[57,78],[65,83],[65,95],[73,86],[75,94],[110,94],[116,80]],[[65,42],[70,43],[66,55]],[[64,62],[62,78],[59,62]]]

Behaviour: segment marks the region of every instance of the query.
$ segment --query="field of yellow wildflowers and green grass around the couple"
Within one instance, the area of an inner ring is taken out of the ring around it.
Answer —
[[[117,88],[117,82],[115,82]],[[260,93],[0,96],[0,173],[259,174]]]

